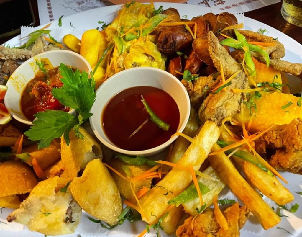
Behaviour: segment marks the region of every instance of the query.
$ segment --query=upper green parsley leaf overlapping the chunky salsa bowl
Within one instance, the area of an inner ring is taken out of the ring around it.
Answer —
[[[87,114],[95,101],[95,81],[88,79],[88,73],[80,70],[73,72],[72,68],[61,63],[59,67],[62,75],[61,81],[64,84],[60,88],[53,88],[53,96],[64,106],[70,107],[80,113],[80,121],[89,118]],[[85,113],[83,113],[85,112]]]

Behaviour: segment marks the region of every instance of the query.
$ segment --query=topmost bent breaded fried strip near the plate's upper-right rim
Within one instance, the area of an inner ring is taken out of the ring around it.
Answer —
[[[279,59],[284,57],[285,55],[284,45],[281,44],[278,40],[274,40],[273,37],[263,35],[258,32],[249,31],[249,30],[238,30],[238,31],[239,33],[243,34],[246,37],[247,41],[274,43],[273,46],[264,47],[264,50],[268,53],[268,55],[272,59]],[[262,54],[260,53],[255,53],[255,54],[257,54],[258,57],[262,57]]]

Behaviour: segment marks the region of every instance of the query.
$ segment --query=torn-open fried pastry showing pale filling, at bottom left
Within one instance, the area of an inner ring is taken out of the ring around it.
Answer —
[[[82,216],[82,209],[70,191],[61,190],[69,180],[53,177],[41,181],[19,209],[8,215],[8,222],[24,224],[31,231],[44,235],[73,233]]]

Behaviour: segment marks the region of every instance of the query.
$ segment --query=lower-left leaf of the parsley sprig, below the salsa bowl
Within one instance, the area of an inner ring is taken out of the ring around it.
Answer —
[[[69,131],[79,121],[73,115],[61,110],[46,110],[34,115],[35,126],[24,134],[31,141],[39,141],[38,149],[48,147],[54,138],[60,138],[64,134],[66,144],[69,144]]]

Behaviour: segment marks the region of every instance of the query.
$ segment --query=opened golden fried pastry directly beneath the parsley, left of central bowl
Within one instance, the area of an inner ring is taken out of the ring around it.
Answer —
[[[102,159],[100,144],[84,128],[80,127],[79,131],[84,135],[84,139],[77,138],[71,130],[68,146],[63,136],[61,137],[61,158],[66,175],[70,179],[77,177],[80,169],[84,170],[89,161]]]

